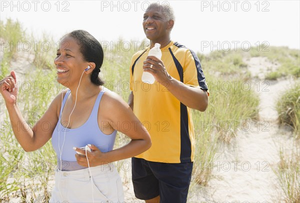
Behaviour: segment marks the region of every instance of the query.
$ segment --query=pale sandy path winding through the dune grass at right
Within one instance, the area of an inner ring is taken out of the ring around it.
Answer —
[[[275,102],[292,85],[288,79],[264,80],[264,69],[276,68],[264,57],[252,57],[248,61],[252,77],[258,77],[251,88],[259,95],[259,122],[247,122],[232,138],[230,146],[223,144],[210,165],[215,178],[208,187],[199,189],[191,201],[229,202],[280,202],[282,193],[272,167],[279,161],[278,149],[282,143],[292,147],[291,132],[279,128]],[[260,86],[258,86],[258,83]]]

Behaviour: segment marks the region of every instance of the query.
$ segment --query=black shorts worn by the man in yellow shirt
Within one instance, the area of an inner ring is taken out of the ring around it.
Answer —
[[[160,202],[186,202],[192,162],[164,163],[132,157],[132,183],[136,198],[160,195]]]

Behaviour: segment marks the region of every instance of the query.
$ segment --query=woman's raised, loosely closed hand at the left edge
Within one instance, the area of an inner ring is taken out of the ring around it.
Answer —
[[[0,93],[2,94],[6,104],[15,104],[17,97],[17,86],[14,71],[9,76],[0,80]]]

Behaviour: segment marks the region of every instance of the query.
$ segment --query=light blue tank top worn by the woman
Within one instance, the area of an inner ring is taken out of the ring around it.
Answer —
[[[109,91],[109,89],[103,87],[103,90],[99,92],[97,99],[94,103],[94,106],[92,108],[92,111],[88,119],[86,120],[86,122],[82,124],[80,127],[73,128],[73,129],[66,128],[60,124],[61,112],[64,107],[65,101],[68,95],[70,94],[70,90],[68,90],[64,95],[60,113],[59,113],[59,119],[52,133],[52,139],[51,139],[53,148],[56,152],[57,166],[59,169],[77,170],[77,169],[84,168],[83,166],[77,163],[75,158],[76,152],[72,148],[73,146],[81,147],[81,146],[85,146],[86,144],[94,144],[102,152],[107,152],[113,149],[113,144],[114,144],[115,135],[117,131],[114,130],[111,134],[107,135],[101,131],[98,125],[99,103],[105,91]],[[105,121],[102,122],[104,126],[107,126],[107,122],[106,123],[104,123]],[[64,143],[63,143],[63,138],[64,138]],[[59,152],[58,142],[61,150],[62,168],[60,168],[60,158],[59,158],[60,152]]]

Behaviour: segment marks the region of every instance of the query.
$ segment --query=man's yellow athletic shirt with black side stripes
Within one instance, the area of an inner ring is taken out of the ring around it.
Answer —
[[[195,139],[190,108],[157,81],[153,84],[141,81],[142,65],[148,51],[149,47],[135,53],[130,65],[133,112],[152,140],[152,146],[135,157],[168,163],[193,161]],[[171,41],[161,48],[161,52],[161,60],[172,77],[207,91],[200,61],[193,51]]]

